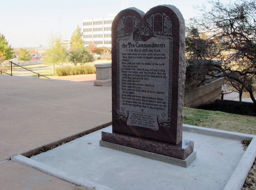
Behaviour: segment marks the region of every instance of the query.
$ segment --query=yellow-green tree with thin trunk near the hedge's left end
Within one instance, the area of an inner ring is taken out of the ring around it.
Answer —
[[[46,65],[53,65],[55,74],[55,65],[63,64],[67,59],[66,48],[62,46],[60,38],[51,39],[51,48],[45,52],[43,63]]]

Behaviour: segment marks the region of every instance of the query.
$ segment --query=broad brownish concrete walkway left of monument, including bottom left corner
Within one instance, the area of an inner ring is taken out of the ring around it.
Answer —
[[[0,75],[0,105],[0,189],[73,189],[6,159],[112,121],[111,86],[86,82]]]

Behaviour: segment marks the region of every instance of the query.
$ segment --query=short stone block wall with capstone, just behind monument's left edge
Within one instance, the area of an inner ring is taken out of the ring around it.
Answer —
[[[112,63],[94,65],[94,67],[96,68],[96,80],[94,81],[95,86],[105,86],[111,84],[111,66]]]

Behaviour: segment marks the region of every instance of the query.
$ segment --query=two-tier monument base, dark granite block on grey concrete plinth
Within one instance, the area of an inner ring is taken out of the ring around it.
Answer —
[[[146,158],[157,158],[156,160],[171,164],[177,163],[176,165],[183,167],[187,167],[196,158],[196,152],[193,152],[194,142],[190,140],[182,140],[180,144],[173,145],[112,131],[102,131],[100,146]]]

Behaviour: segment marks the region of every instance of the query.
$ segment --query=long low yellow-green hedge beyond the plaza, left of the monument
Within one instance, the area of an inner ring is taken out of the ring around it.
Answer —
[[[77,74],[95,74],[94,65],[81,66],[63,66],[55,69],[57,76],[77,75]]]

